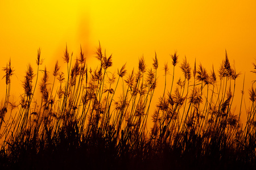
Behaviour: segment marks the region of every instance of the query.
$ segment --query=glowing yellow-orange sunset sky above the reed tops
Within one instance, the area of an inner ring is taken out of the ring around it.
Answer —
[[[238,99],[246,73],[246,94],[256,75],[256,1],[0,1],[0,67],[7,61],[15,69],[13,81],[20,83],[27,63],[36,67],[38,48],[43,65],[52,71],[56,59],[64,66],[63,53],[79,56],[80,44],[88,66],[96,65],[94,52],[101,42],[113,68],[127,63],[137,68],[142,55],[151,66],[155,52],[162,69],[171,67],[176,50],[193,66],[200,62],[210,71],[218,70],[225,50],[242,75]],[[42,66],[43,69],[44,66]],[[0,77],[4,75],[0,72]],[[177,75],[179,76],[179,75]],[[180,75],[181,76],[181,75]],[[1,84],[5,84],[1,79]],[[160,86],[160,85],[159,85]],[[12,84],[13,89],[16,87]],[[18,92],[18,94],[21,92]],[[5,91],[1,91],[3,96]],[[11,93],[12,94],[12,93]]]

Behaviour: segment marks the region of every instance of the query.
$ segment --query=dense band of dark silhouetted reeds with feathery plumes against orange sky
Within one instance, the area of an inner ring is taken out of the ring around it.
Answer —
[[[27,67],[18,104],[9,101],[11,62],[3,68],[1,169],[256,167],[255,88],[249,90],[251,107],[245,112],[243,89],[242,97],[234,99],[240,74],[227,55],[218,71],[207,71],[196,62],[191,66],[174,53],[171,69],[164,65],[164,74],[158,75],[156,54],[150,67],[141,58],[138,69],[127,71],[123,65],[112,74],[112,56],[102,53],[101,46],[94,69],[87,66],[82,49],[72,60],[66,47],[64,75],[59,62],[53,71],[40,71],[40,52],[36,70]],[[183,76],[174,82],[176,69]],[[158,84],[160,76],[163,84]],[[154,93],[156,87],[163,87],[163,93]],[[153,96],[159,97],[157,103]],[[241,101],[236,113],[234,100]],[[243,125],[241,114],[247,116]]]

